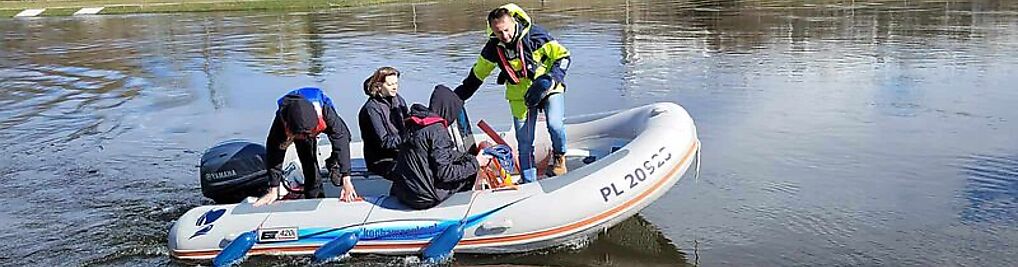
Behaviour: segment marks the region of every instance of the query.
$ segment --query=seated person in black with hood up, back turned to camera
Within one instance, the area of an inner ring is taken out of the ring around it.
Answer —
[[[438,86],[429,105],[410,107],[409,136],[399,147],[391,173],[389,194],[414,209],[432,208],[457,192],[469,191],[478,169],[478,158],[456,150],[447,129],[463,109],[463,101],[449,88]],[[486,156],[479,157],[483,162]]]

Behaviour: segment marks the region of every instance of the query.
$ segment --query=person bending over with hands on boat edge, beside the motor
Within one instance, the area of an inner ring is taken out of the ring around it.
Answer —
[[[256,207],[269,205],[284,195],[282,181],[283,158],[290,145],[296,146],[297,158],[303,169],[305,199],[324,198],[322,179],[319,178],[318,136],[326,134],[332,144],[332,154],[326,159],[329,177],[341,188],[340,199],[353,201],[357,193],[350,182],[350,129],[336,113],[332,99],[318,88],[290,91],[276,104],[276,116],[266,139],[266,169],[269,172],[269,192],[254,202]]]

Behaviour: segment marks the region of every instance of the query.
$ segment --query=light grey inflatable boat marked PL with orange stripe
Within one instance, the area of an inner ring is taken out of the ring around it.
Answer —
[[[698,158],[692,118],[673,103],[580,118],[567,121],[566,127],[570,171],[565,175],[461,192],[435,208],[413,210],[386,196],[390,181],[367,173],[362,161],[355,160],[353,182],[362,201],[341,202],[338,189],[325,182],[326,199],[263,207],[252,207],[248,199],[196,207],[171,226],[169,250],[178,259],[211,259],[241,233],[253,231],[257,241],[248,256],[309,255],[356,231],[359,242],[352,254],[414,255],[455,223],[463,225],[455,253],[541,250],[588,238],[633,216],[667,193]],[[538,148],[549,146],[547,131],[542,131]],[[514,140],[511,131],[499,135]],[[328,147],[319,149],[328,155]],[[360,154],[360,144],[351,144],[351,157]]]

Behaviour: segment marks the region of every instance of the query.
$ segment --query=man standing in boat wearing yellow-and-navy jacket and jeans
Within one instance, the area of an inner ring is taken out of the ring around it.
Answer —
[[[463,100],[470,98],[495,70],[501,70],[498,84],[506,85],[506,99],[512,111],[519,148],[523,181],[536,180],[533,159],[533,131],[538,112],[548,116],[548,132],[554,151],[548,175],[566,173],[566,128],[563,122],[565,100],[563,83],[569,68],[569,50],[552,38],[544,28],[516,4],[506,4],[488,14],[490,39],[480,50],[470,73],[456,88]]]

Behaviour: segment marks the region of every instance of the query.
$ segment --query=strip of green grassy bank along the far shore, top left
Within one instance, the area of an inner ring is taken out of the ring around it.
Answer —
[[[398,0],[57,0],[0,1],[0,17],[26,8],[47,8],[43,16],[71,15],[82,7],[106,6],[100,14],[211,12],[238,10],[307,11],[362,6]]]

